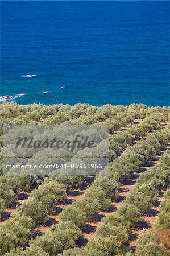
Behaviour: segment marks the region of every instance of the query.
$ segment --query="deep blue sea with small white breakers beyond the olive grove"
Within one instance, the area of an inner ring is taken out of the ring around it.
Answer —
[[[1,1],[7,95],[24,105],[169,106],[170,2]]]

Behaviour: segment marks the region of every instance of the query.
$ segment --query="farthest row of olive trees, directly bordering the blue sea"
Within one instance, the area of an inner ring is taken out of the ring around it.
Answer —
[[[65,121],[69,121],[70,119],[78,119],[80,117],[91,116],[90,119],[93,119],[94,122],[103,122],[106,121],[107,118],[112,118],[114,115],[118,113],[123,113],[126,110],[129,113],[134,113],[135,118],[146,118],[147,115],[154,113],[157,110],[159,113],[168,113],[169,108],[163,107],[155,107],[155,108],[147,108],[144,104],[131,104],[127,107],[117,105],[104,105],[102,107],[90,106],[89,104],[76,104],[74,106],[70,105],[51,105],[45,106],[41,104],[31,104],[27,106],[15,104],[13,102],[7,102],[6,104],[1,104],[0,114],[2,118],[11,118],[18,119],[17,121],[22,120],[23,122],[29,123],[29,121],[39,122],[40,119],[47,119],[47,123],[63,123]],[[134,115],[133,114],[133,115]],[[82,118],[82,120],[84,119]],[[86,119],[88,120],[88,119]],[[92,120],[91,120],[92,121]]]

